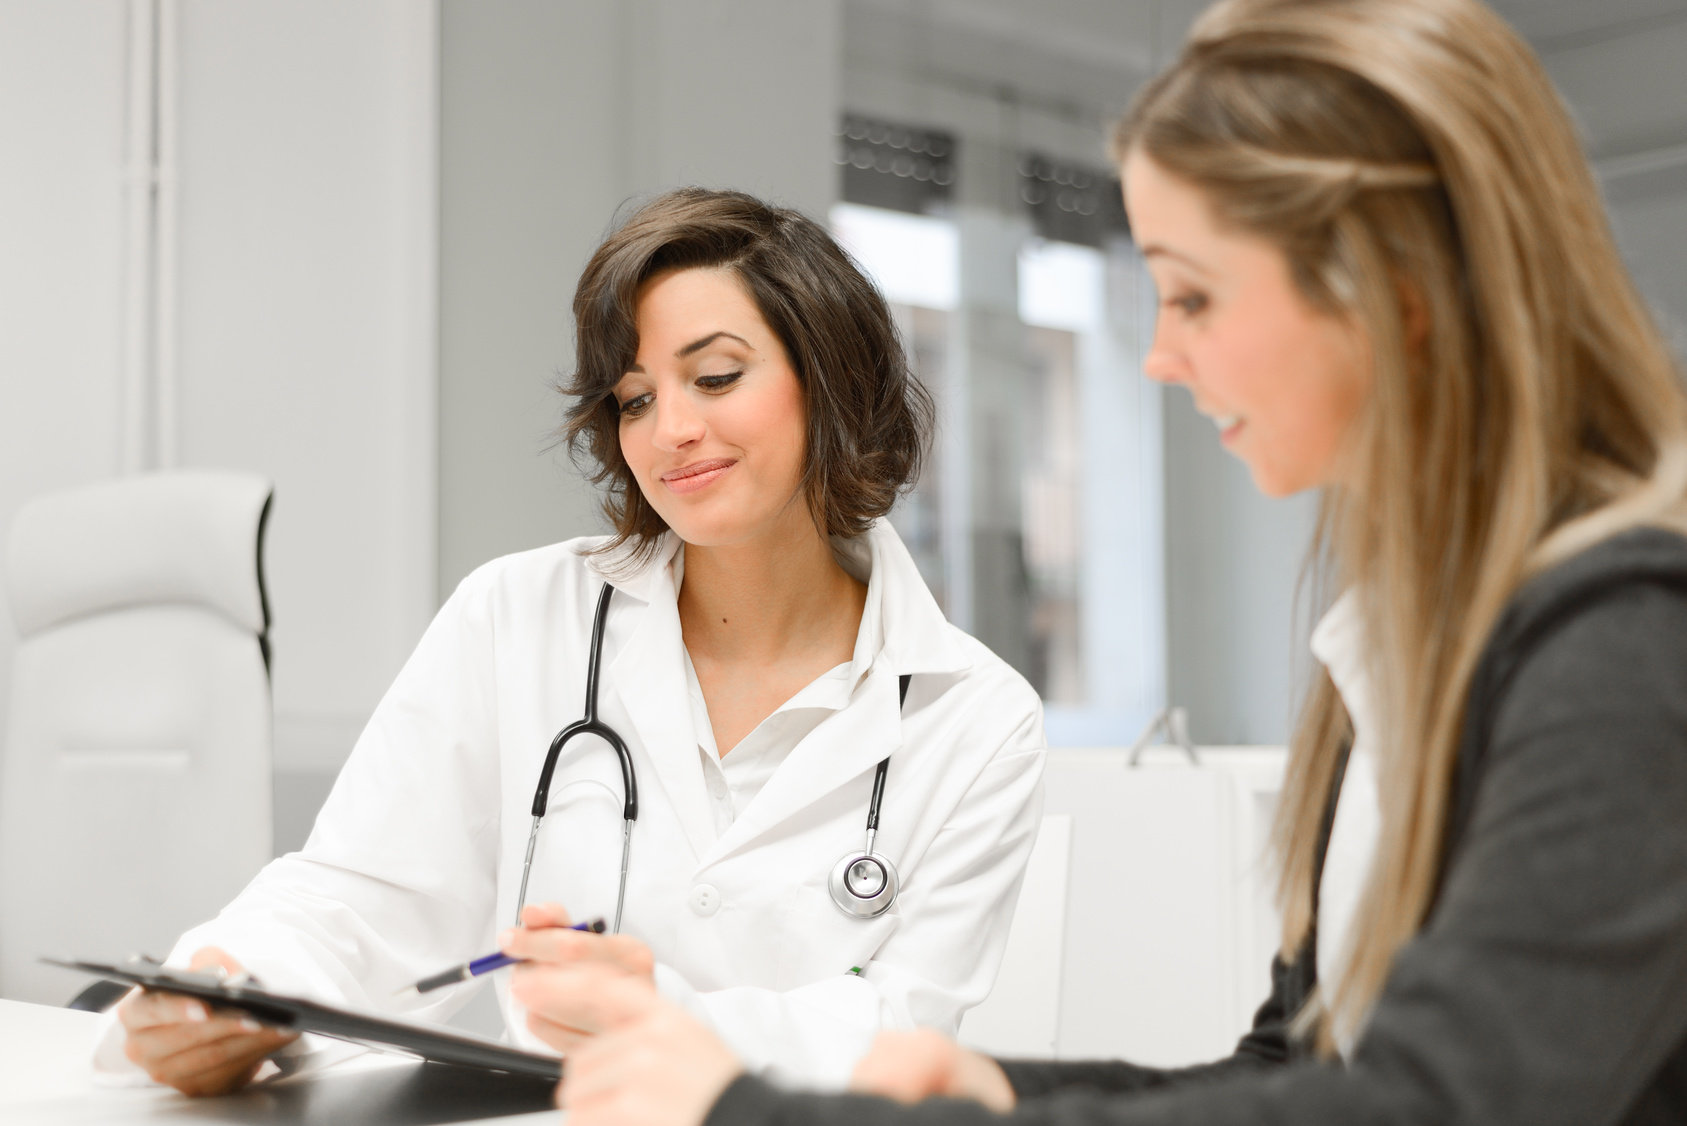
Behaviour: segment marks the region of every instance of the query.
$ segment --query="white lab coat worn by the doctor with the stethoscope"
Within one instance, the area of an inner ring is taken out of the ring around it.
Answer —
[[[267,986],[445,1020],[477,986],[395,989],[494,949],[511,925],[533,787],[584,711],[604,564],[582,539],[471,574],[376,707],[304,851],[268,864],[172,961],[219,945]],[[673,554],[617,572],[599,716],[638,770],[623,930],[658,986],[759,1074],[840,1085],[881,1028],[953,1033],[990,991],[1041,814],[1041,704],[941,616],[879,522],[842,550],[865,571],[882,648],[717,836],[693,731]],[[906,709],[897,677],[911,674]],[[845,917],[827,878],[862,846],[874,768],[891,755],[876,849],[903,880],[879,918]],[[612,917],[621,861],[614,751],[579,738],[558,761],[528,901]],[[859,972],[850,972],[859,967]],[[516,1043],[526,1030],[494,977]],[[110,1055],[105,1052],[101,1055]]]

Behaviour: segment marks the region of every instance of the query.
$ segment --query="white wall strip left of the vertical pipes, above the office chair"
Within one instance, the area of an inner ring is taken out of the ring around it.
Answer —
[[[125,5],[0,0],[0,535],[118,466]],[[17,633],[0,599],[0,731]]]

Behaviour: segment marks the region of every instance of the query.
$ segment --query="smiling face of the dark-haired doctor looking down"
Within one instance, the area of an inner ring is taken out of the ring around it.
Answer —
[[[651,508],[698,547],[811,530],[803,392],[744,285],[670,270],[644,282],[634,314],[638,356],[614,397],[621,456]]]

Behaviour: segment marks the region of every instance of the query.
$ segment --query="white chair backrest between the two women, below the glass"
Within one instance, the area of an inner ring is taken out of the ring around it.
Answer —
[[[1270,993],[1279,923],[1265,844],[1285,751],[1130,758],[1049,751],[1002,969],[962,1020],[962,1043],[1193,1064],[1226,1055]]]

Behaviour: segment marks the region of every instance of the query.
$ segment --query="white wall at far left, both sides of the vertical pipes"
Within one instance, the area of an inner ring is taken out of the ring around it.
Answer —
[[[120,468],[128,10],[0,0],[0,525]],[[437,12],[177,12],[175,461],[275,479],[277,765],[337,765],[434,609]]]

